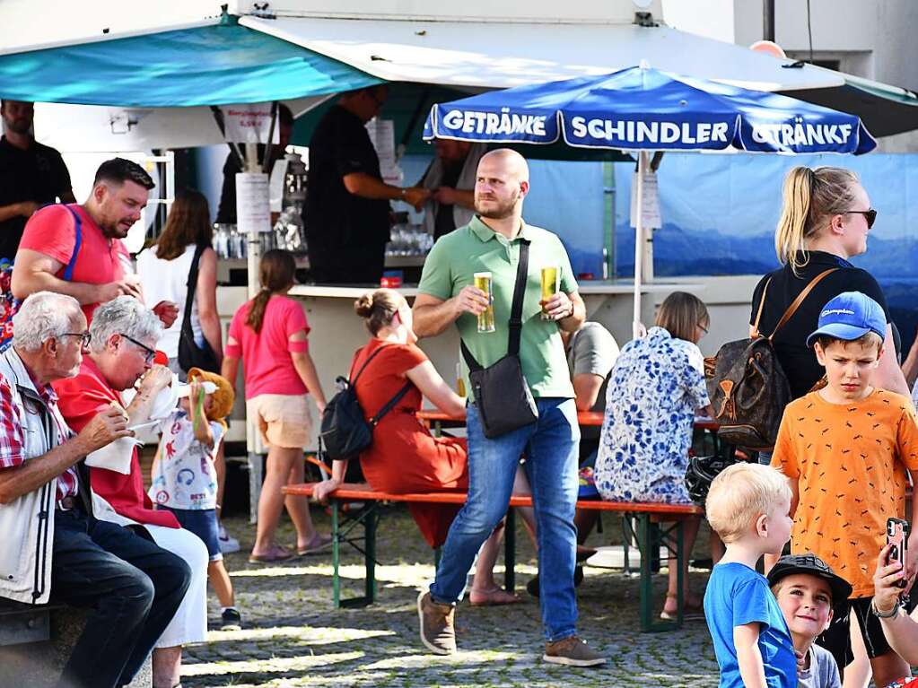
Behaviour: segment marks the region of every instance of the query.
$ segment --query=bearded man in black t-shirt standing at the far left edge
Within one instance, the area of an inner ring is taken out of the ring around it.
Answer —
[[[31,103],[0,101],[0,258],[12,261],[26,220],[42,205],[76,203],[61,153],[32,138]]]

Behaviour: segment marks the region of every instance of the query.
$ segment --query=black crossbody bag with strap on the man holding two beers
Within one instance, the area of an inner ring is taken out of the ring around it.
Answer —
[[[510,307],[507,355],[494,365],[482,368],[465,347],[465,342],[460,342],[482,430],[489,439],[532,425],[539,419],[539,410],[523,377],[520,362],[522,300],[526,293],[528,271],[529,241],[521,239],[520,263],[513,286],[513,305]]]

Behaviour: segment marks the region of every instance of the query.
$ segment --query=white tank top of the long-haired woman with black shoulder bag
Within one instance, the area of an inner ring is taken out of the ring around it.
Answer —
[[[182,318],[185,316],[185,296],[188,293],[188,272],[195,257],[195,245],[185,247],[185,253],[172,261],[162,261],[156,257],[156,249],[151,246],[137,257],[137,273],[143,287],[143,298],[147,305],[153,306],[161,301],[172,301],[178,306],[178,317],[172,327],[162,333],[156,342],[156,348],[170,359],[178,356],[178,339],[182,332]],[[191,328],[195,333],[198,346],[204,343],[201,333],[201,321],[197,317],[197,299],[191,307]]]

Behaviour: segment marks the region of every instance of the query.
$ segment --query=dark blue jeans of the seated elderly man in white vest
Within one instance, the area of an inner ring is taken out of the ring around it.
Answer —
[[[134,677],[182,604],[184,560],[79,509],[54,516],[51,602],[89,609],[61,685],[111,688]]]

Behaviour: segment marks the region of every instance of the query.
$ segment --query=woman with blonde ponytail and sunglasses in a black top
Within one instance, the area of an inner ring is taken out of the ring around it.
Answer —
[[[749,320],[752,335],[756,335],[756,314],[763,294],[757,333],[767,337],[800,292],[823,272],[834,270],[813,287],[774,338],[778,361],[796,399],[823,377],[823,367],[806,345],[806,338],[818,327],[823,305],[843,292],[861,292],[883,307],[887,323],[890,311],[873,276],[849,262],[867,250],[868,231],[877,218],[857,175],[839,167],[795,167],[784,180],[783,196],[775,232],[775,250],[782,267],[756,285]],[[875,383],[891,392],[909,394],[896,362],[889,324]]]

